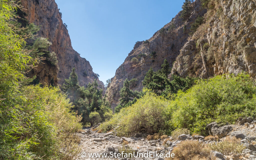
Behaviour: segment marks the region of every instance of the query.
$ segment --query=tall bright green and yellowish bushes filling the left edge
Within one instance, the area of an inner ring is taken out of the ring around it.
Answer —
[[[28,85],[33,79],[24,75],[41,59],[35,45],[45,44],[26,46],[35,27],[21,27],[16,8],[0,2],[0,159],[72,159],[79,153],[74,133],[81,117],[59,89]]]

